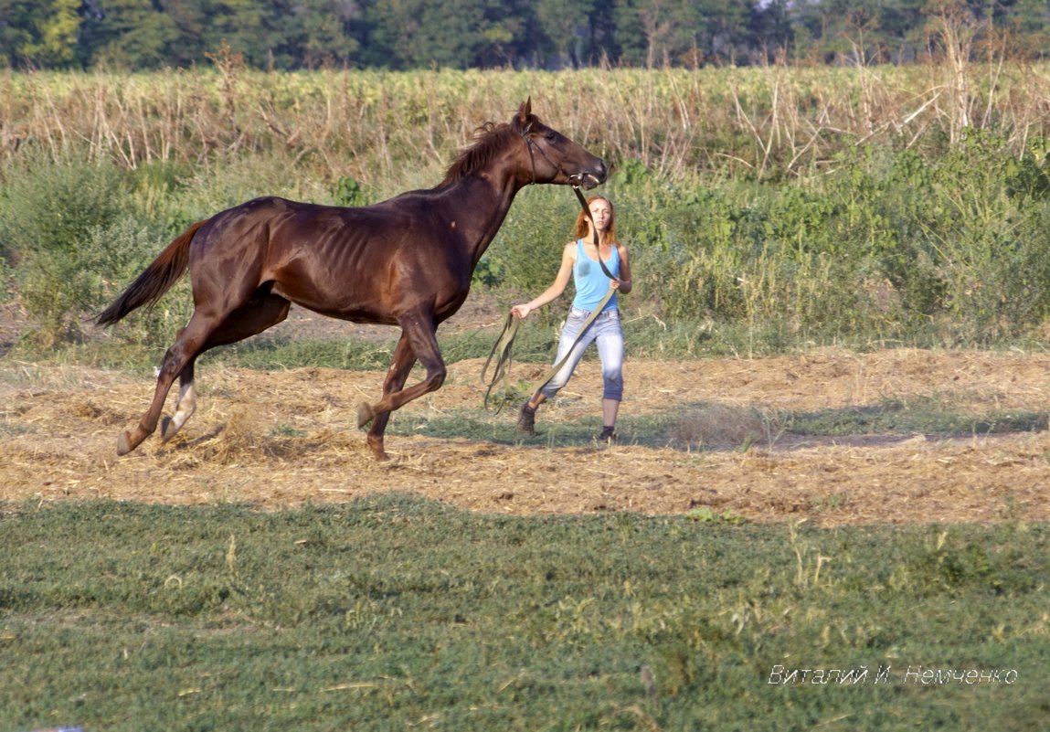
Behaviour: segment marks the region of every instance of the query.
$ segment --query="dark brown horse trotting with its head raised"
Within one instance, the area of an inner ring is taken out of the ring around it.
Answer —
[[[385,459],[391,412],[444,381],[435,332],[466,299],[514,194],[530,183],[593,188],[606,175],[602,159],[540,122],[529,100],[508,124],[479,128],[436,188],[360,208],[256,198],[194,224],[98,317],[108,326],[152,305],[190,270],[193,316],[164,356],[149,410],[121,434],[118,453],[156,430],[178,377],[175,414],[161,430],[163,440],[174,436],[195,407],[197,357],[280,322],[295,302],[343,320],[401,327],[382,398],[357,412],[358,427],[372,422],[373,454]],[[417,360],[426,376],[405,389]]]

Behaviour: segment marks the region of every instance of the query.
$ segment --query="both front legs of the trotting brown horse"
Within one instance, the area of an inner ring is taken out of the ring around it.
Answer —
[[[378,460],[386,457],[386,453],[383,452],[383,432],[386,430],[390,413],[413,399],[440,389],[445,381],[446,374],[445,362],[442,360],[441,351],[438,348],[434,317],[429,311],[408,313],[398,320],[401,323],[401,340],[398,341],[394,363],[391,364],[385,382],[392,389],[384,393],[383,398],[375,404],[363,403],[357,410],[358,426],[364,426],[370,421],[375,420],[375,424],[369,431],[369,445]],[[404,353],[405,351],[407,353]],[[402,363],[399,360],[399,353],[402,354],[401,359],[405,362]],[[419,383],[402,389],[401,386],[412,370],[412,364],[416,360],[419,360],[426,369],[426,376]]]

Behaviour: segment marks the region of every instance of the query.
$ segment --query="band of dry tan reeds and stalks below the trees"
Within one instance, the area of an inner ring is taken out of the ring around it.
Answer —
[[[921,147],[992,120],[1017,154],[1048,137],[1050,65],[967,64],[962,42],[944,63],[906,67],[267,74],[225,59],[130,76],[6,71],[0,169],[30,147],[86,147],[128,167],[281,151],[316,174],[374,183],[440,168],[529,95],[568,135],[671,179],[727,165],[792,172],[843,146]]]

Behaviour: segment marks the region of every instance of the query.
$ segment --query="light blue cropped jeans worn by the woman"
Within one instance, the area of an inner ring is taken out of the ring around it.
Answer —
[[[620,327],[620,311],[612,309],[600,313],[573,347],[572,341],[589,315],[589,312],[579,308],[569,310],[569,317],[565,320],[565,328],[562,329],[562,337],[558,342],[558,358],[554,363],[565,357],[570,347],[572,353],[547,385],[540,390],[548,399],[569,382],[569,377],[592,342],[597,343],[597,355],[602,360],[602,379],[605,382],[602,398],[621,401],[624,397],[624,331]]]

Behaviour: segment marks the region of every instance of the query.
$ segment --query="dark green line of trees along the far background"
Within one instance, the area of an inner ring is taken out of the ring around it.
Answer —
[[[0,0],[0,65],[569,68],[1043,58],[1046,0]]]

